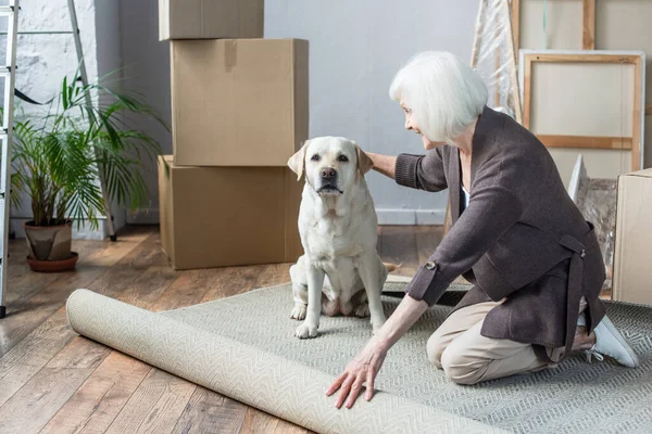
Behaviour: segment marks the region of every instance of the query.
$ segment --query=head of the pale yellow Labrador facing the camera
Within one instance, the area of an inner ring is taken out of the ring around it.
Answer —
[[[358,143],[342,137],[317,137],[306,140],[290,157],[288,166],[319,195],[343,194],[373,167],[372,158]]]

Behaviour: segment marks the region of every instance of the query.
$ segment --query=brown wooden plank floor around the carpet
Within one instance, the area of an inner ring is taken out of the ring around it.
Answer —
[[[378,251],[412,276],[440,227],[383,227]],[[86,288],[159,311],[289,281],[290,264],[173,271],[158,227],[117,242],[74,241],[76,271],[32,272],[10,243],[8,317],[0,320],[0,433],[305,433],[306,430],[78,336],[66,297]],[[343,367],[342,367],[343,368]]]

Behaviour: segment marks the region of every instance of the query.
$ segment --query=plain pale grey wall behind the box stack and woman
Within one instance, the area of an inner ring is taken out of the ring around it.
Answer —
[[[471,59],[477,5],[477,0],[266,0],[265,37],[310,41],[311,136],[347,136],[379,153],[423,152],[389,100],[391,78],[421,50]],[[122,0],[122,53],[130,78],[125,85],[143,92],[170,122],[168,42],[158,41],[156,8],[156,0]],[[142,127],[172,151],[168,135],[151,124]],[[154,169],[147,179],[155,199]],[[443,221],[446,192],[410,191],[376,173],[368,183],[381,224]],[[158,221],[156,208],[154,200],[149,214],[129,221]]]

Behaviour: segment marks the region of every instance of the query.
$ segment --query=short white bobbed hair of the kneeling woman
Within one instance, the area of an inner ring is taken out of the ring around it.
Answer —
[[[457,56],[426,51],[397,73],[389,97],[403,101],[426,138],[450,142],[482,113],[489,93],[480,76]]]

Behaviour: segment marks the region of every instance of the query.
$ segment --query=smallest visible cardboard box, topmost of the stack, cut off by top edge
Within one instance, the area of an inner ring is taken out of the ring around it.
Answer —
[[[159,0],[159,40],[262,38],[264,0]]]

